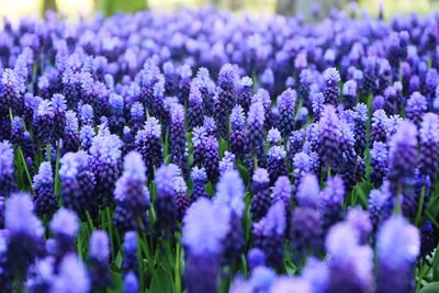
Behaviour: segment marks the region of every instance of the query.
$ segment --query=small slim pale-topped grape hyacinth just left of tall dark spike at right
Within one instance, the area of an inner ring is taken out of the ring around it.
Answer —
[[[375,142],[373,143],[370,154],[372,167],[370,179],[375,187],[380,187],[383,183],[383,179],[387,174],[387,146],[384,143]]]

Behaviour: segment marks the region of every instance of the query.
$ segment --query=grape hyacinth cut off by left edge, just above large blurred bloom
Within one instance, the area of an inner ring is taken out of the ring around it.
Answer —
[[[8,194],[14,189],[14,154],[8,140],[0,142],[0,190]]]

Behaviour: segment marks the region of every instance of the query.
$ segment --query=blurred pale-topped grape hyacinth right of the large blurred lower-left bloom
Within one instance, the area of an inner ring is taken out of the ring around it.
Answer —
[[[59,209],[50,221],[50,230],[55,236],[53,255],[57,262],[64,256],[75,251],[75,239],[79,232],[79,221],[75,212],[67,209]]]

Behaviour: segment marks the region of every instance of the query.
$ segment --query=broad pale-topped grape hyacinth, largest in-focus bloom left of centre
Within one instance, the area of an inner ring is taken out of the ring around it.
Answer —
[[[90,171],[95,178],[95,196],[100,206],[105,207],[113,202],[114,184],[122,165],[122,140],[114,134],[101,128],[93,137],[89,149]]]

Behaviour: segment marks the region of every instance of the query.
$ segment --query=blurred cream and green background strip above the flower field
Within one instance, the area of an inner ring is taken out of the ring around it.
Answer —
[[[384,7],[384,16],[417,12],[429,13],[439,9],[439,0],[357,0],[353,3],[361,5],[370,14],[375,14],[379,7]],[[302,13],[309,16],[312,8],[319,5],[325,13],[331,7],[349,10],[352,1],[349,0],[0,0],[0,16],[8,16],[16,21],[22,16],[41,16],[46,10],[55,10],[66,18],[75,20],[79,16],[89,18],[94,12],[111,15],[117,11],[134,12],[149,9],[155,12],[166,12],[181,7],[196,8],[202,5],[217,5],[221,9],[248,11],[251,13],[279,13],[291,15]]]

